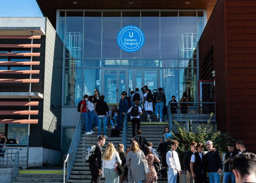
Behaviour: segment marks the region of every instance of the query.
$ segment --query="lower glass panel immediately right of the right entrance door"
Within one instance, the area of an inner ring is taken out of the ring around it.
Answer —
[[[170,101],[172,96],[179,101],[179,75],[178,69],[161,69],[160,85],[164,88],[166,101]]]

